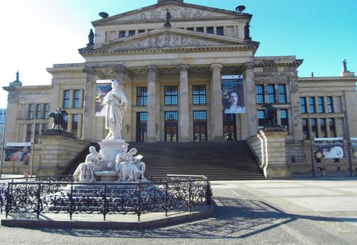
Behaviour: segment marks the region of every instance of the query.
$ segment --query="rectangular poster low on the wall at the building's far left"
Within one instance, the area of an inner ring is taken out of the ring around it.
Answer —
[[[28,165],[30,162],[30,142],[6,143],[5,161],[24,162]]]

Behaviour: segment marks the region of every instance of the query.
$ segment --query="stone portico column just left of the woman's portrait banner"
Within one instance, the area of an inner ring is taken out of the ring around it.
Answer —
[[[212,140],[223,140],[223,115],[222,115],[222,84],[220,79],[221,64],[211,65],[211,122],[212,122]]]

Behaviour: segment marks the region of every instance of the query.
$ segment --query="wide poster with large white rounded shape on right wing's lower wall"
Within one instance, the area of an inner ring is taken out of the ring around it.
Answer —
[[[342,159],[343,138],[314,138],[318,159]]]

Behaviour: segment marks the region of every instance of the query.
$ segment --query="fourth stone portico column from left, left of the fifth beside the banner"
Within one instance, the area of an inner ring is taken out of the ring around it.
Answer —
[[[179,141],[189,141],[188,65],[180,65]]]

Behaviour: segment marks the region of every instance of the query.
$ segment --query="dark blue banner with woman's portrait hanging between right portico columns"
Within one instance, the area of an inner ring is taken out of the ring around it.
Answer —
[[[223,113],[245,113],[242,75],[222,75]]]

